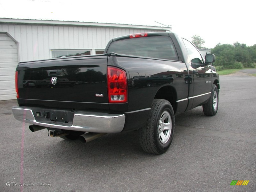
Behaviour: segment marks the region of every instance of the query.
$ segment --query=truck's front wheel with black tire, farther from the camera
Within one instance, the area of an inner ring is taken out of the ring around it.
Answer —
[[[211,96],[207,103],[203,104],[203,111],[206,116],[214,116],[218,111],[219,91],[215,84],[211,88]]]

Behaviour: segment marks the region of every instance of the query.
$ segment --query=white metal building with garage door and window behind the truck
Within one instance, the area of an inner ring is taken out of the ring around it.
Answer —
[[[114,37],[167,30],[171,28],[0,18],[0,100],[16,99],[19,61],[101,54]]]

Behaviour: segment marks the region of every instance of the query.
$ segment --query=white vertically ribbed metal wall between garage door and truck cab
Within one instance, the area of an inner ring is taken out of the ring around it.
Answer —
[[[104,49],[114,37],[160,30],[63,25],[0,24],[19,42],[19,60],[50,58],[50,49]]]

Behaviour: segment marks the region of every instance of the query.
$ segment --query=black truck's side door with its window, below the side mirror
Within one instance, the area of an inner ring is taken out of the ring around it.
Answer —
[[[194,108],[210,97],[212,71],[209,65],[204,64],[204,60],[196,47],[186,39],[183,39],[183,42],[191,60],[189,74],[193,77],[190,81],[191,86],[193,86],[193,94],[190,93],[188,99],[189,108],[190,106]]]

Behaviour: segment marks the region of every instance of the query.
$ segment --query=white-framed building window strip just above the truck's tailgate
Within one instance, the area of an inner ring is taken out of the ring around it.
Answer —
[[[51,58],[103,54],[103,49],[50,49]]]

